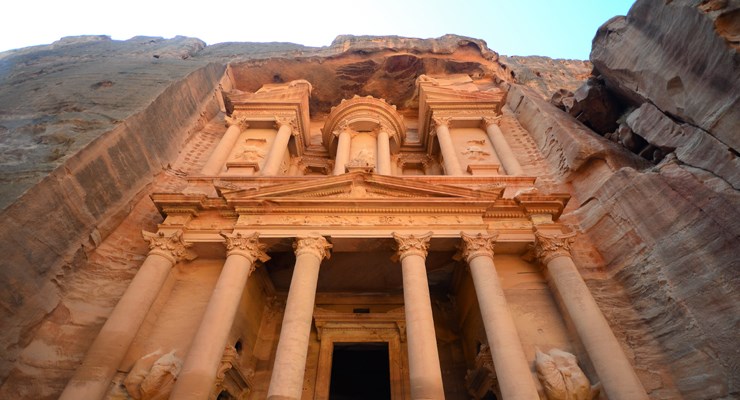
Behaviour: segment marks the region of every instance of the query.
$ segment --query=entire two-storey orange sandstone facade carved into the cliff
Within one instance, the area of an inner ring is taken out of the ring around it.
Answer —
[[[328,114],[321,82],[233,87],[63,399],[647,398],[504,86]]]

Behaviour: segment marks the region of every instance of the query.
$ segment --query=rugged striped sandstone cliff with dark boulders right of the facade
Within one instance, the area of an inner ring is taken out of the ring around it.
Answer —
[[[529,89],[507,99],[569,184],[577,262],[652,398],[740,393],[739,7],[638,0],[599,29],[571,113],[643,160]]]

